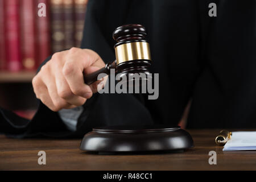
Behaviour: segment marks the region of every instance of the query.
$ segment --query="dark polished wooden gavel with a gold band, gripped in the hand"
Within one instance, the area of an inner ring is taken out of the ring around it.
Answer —
[[[121,77],[126,78],[134,73],[150,74],[148,68],[151,65],[151,55],[146,35],[146,29],[141,24],[126,24],[116,28],[113,32],[113,39],[117,42],[114,45],[115,60],[96,72],[84,74],[85,84],[97,81],[101,73],[109,75],[110,69],[115,69],[115,73],[121,73]]]

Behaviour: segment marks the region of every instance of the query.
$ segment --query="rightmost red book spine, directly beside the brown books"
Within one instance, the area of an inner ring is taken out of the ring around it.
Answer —
[[[38,34],[37,45],[38,45],[38,63],[39,66],[46,58],[50,55],[50,21],[49,21],[49,3],[48,0],[37,0],[37,5],[44,3],[46,5],[46,16],[36,16],[36,32]]]

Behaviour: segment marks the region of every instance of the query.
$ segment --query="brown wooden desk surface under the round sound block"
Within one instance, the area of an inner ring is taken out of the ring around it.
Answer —
[[[223,152],[214,138],[220,130],[188,130],[195,147],[185,152],[147,155],[95,155],[79,150],[80,139],[9,139],[0,136],[0,170],[256,170],[256,151]],[[38,152],[46,151],[46,165]],[[209,165],[209,151],[217,165]]]

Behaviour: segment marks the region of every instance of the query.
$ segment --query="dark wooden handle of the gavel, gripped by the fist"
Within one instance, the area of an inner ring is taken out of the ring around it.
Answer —
[[[101,73],[106,73],[107,75],[109,75],[110,69],[115,68],[115,67],[116,67],[116,63],[115,63],[115,61],[113,61],[112,63],[106,64],[104,68],[101,68],[96,72],[90,73],[88,75],[85,75],[85,73],[84,73],[85,84],[90,85],[93,82],[97,81],[98,75],[100,75]]]

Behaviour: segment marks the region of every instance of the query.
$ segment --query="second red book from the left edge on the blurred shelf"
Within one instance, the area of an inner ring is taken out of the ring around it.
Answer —
[[[5,38],[7,69],[17,72],[22,69],[19,40],[19,2],[20,0],[5,1]]]

